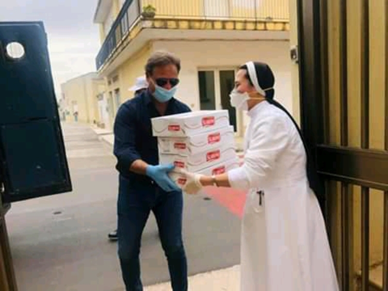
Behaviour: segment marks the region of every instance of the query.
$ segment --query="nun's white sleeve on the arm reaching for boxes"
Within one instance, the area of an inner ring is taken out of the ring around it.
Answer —
[[[274,168],[276,158],[290,141],[287,116],[276,114],[255,120],[244,163],[228,172],[232,188],[259,188]],[[275,174],[276,175],[276,174]]]

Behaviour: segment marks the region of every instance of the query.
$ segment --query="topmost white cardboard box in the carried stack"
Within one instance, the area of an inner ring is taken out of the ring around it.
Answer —
[[[191,136],[193,134],[229,126],[227,110],[201,110],[154,117],[153,136]]]

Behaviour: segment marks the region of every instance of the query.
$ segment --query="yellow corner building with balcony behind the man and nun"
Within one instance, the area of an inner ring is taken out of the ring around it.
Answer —
[[[111,120],[156,50],[181,59],[176,97],[192,110],[227,109],[237,135],[248,119],[231,108],[228,95],[246,61],[271,65],[276,98],[292,112],[288,0],[101,0],[95,22],[102,43],[96,65],[106,80]]]

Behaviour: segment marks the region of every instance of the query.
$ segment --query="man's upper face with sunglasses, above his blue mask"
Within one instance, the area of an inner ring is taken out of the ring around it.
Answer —
[[[164,89],[170,90],[179,82],[178,68],[176,65],[163,65],[154,68],[151,76],[147,77],[148,88],[151,93],[155,92],[155,84]]]

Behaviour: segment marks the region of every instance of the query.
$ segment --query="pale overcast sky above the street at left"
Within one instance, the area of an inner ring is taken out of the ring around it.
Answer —
[[[0,0],[0,21],[44,22],[57,93],[61,92],[61,83],[96,70],[95,57],[100,45],[93,16],[97,1]]]

